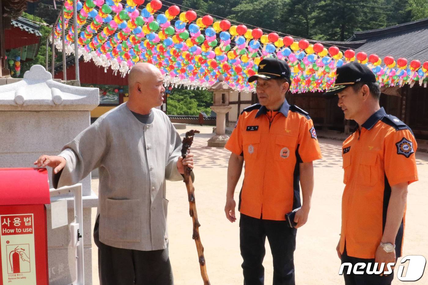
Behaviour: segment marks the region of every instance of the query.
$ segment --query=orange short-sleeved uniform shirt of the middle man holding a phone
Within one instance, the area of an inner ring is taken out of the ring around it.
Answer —
[[[225,147],[244,156],[238,210],[265,220],[285,220],[300,207],[299,163],[321,158],[312,119],[287,101],[278,112],[244,109]]]

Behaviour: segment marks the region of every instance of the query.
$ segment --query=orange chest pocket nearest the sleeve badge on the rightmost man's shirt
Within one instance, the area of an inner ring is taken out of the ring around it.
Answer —
[[[358,166],[357,184],[364,186],[375,186],[378,180],[377,153],[363,152]]]

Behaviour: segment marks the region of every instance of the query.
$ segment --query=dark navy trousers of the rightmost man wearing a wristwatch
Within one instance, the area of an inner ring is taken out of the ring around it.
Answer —
[[[357,257],[348,256],[346,252],[346,245],[345,245],[345,251],[342,254],[342,264],[345,262],[351,263],[353,266],[352,268],[354,268],[354,264],[358,262],[363,262],[366,264],[366,267],[364,268],[364,270],[366,270],[367,264],[369,262],[372,263],[371,268],[373,268],[373,265],[375,263],[375,258],[366,259],[366,258],[357,258]],[[352,271],[351,271],[351,274],[348,275],[346,274],[346,270],[348,270],[348,267],[345,267],[345,270],[343,273],[343,277],[345,278],[345,285],[391,285],[392,279],[394,279],[394,270],[392,270],[392,273],[387,276],[380,276],[377,274],[369,275],[366,272],[360,275],[360,274],[354,274]],[[384,270],[386,271],[386,267]]]

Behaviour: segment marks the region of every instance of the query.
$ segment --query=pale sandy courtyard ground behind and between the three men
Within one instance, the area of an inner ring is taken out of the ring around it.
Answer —
[[[192,128],[201,131],[192,145],[195,154],[195,196],[199,229],[205,247],[205,260],[212,285],[243,284],[239,252],[238,221],[230,223],[224,214],[226,172],[230,152],[224,148],[209,148],[207,140],[212,127],[188,126],[178,130],[181,136]],[[297,232],[294,253],[296,284],[344,284],[339,276],[340,261],[336,254],[339,240],[341,199],[344,188],[341,146],[336,140],[319,140],[322,160],[314,162],[315,188],[309,220]],[[403,254],[428,257],[428,154],[416,153],[419,181],[410,184],[407,196],[407,215]],[[397,166],[397,171],[399,171]],[[238,185],[242,184],[243,175]],[[192,221],[189,216],[186,187],[183,182],[167,182],[169,256],[176,285],[203,284],[195,242],[192,240]],[[239,187],[235,192],[238,202]],[[92,190],[98,193],[98,179],[92,179]],[[237,212],[238,213],[238,212]],[[96,208],[92,209],[92,225]],[[237,214],[239,219],[239,214]],[[325,217],[330,220],[326,221]],[[92,241],[93,284],[98,285],[97,248]],[[398,260],[400,262],[400,259]],[[272,256],[266,241],[265,284],[272,284]],[[393,285],[403,284],[396,277]],[[428,274],[415,285],[428,284]]]

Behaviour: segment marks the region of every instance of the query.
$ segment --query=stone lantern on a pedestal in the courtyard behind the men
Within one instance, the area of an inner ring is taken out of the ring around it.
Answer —
[[[223,78],[208,89],[214,93],[211,109],[217,114],[216,134],[208,140],[208,146],[213,147],[224,147],[229,140],[229,136],[226,135],[226,113],[232,109],[229,106],[229,93],[233,89],[221,79]]]

